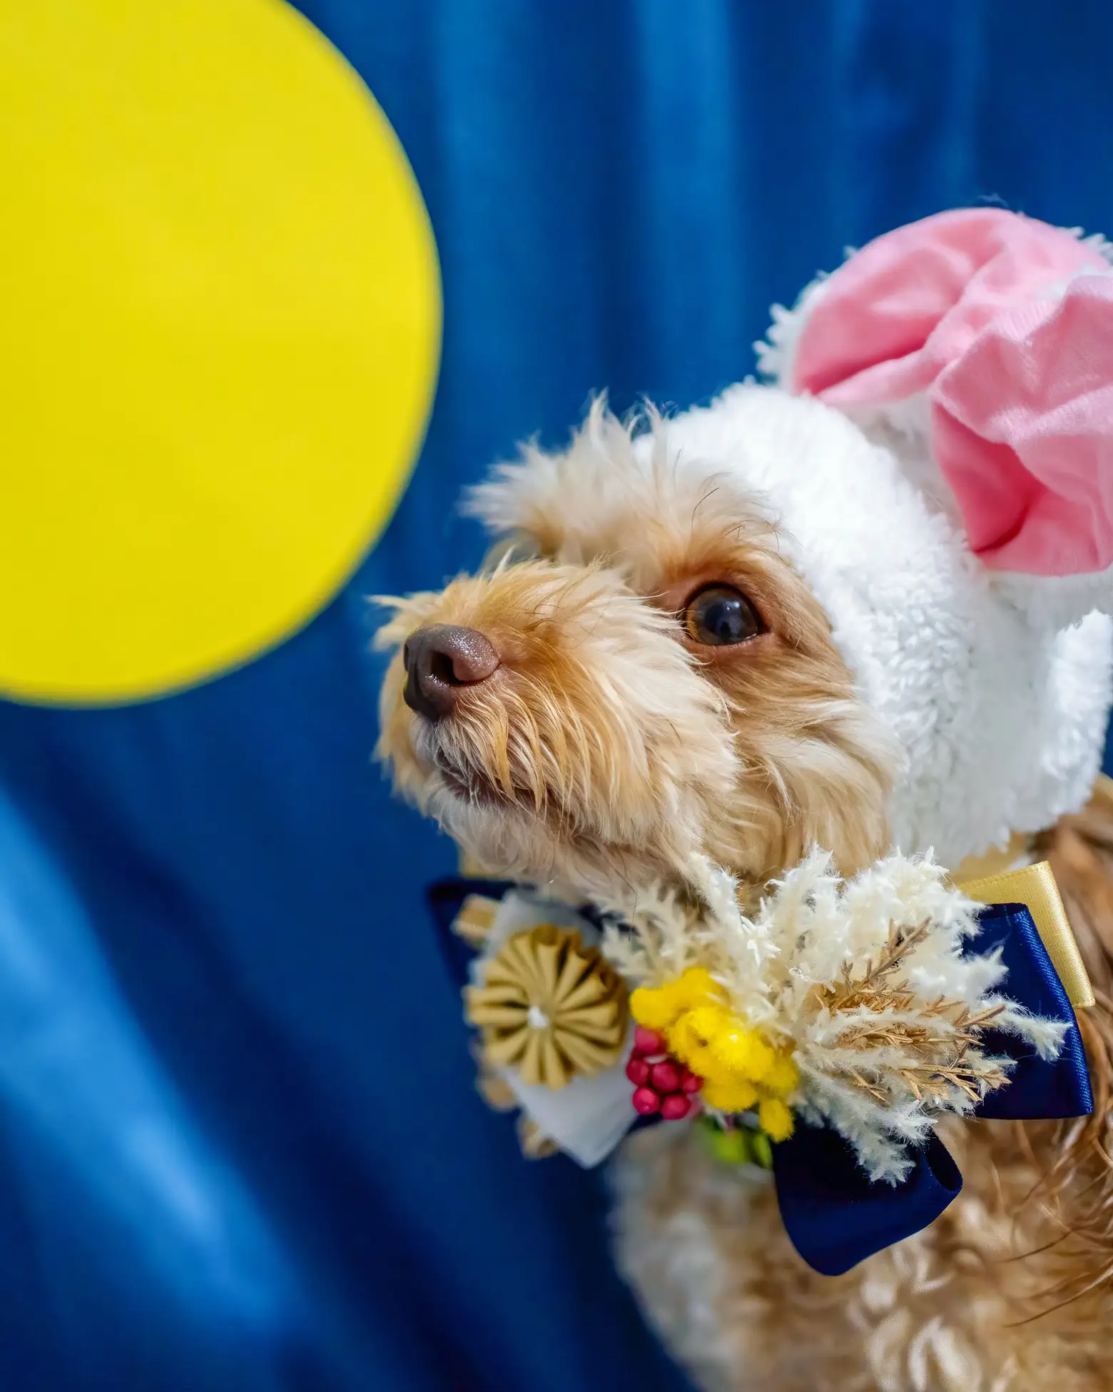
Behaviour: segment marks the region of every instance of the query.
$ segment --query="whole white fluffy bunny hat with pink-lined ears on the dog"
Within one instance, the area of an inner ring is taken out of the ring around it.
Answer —
[[[761,369],[792,395],[735,387],[669,451],[779,515],[904,749],[895,845],[957,866],[1050,825],[1087,802],[1110,707],[1107,245],[942,213],[774,315]]]

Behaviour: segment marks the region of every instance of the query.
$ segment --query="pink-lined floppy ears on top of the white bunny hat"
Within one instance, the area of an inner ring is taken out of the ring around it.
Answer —
[[[856,419],[1055,626],[1113,612],[1113,267],[1082,239],[960,209],[871,242],[778,306],[761,369]]]

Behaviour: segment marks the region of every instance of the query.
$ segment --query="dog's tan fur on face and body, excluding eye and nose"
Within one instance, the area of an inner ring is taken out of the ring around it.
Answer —
[[[529,450],[474,491],[473,511],[536,555],[391,601],[381,754],[473,860],[573,901],[615,883],[683,889],[693,852],[754,894],[811,845],[853,874],[889,846],[915,752],[863,697],[768,498],[678,458],[665,422],[646,425],[632,434],[597,406],[569,451]],[[748,596],[760,636],[701,647],[686,633],[678,614],[710,582]],[[499,657],[435,724],[402,700],[402,644],[430,624],[479,629]],[[796,1256],[771,1187],[716,1168],[689,1128],[625,1144],[620,1267],[707,1388],[1113,1385],[1113,814],[1067,818],[1042,849],[1098,995],[1082,1022],[1092,1119],[954,1123],[961,1197],[838,1279]]]

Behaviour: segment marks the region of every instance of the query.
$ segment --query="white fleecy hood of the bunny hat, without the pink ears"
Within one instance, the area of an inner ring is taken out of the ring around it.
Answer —
[[[818,401],[743,384],[666,430],[678,466],[736,482],[779,518],[863,697],[904,749],[895,845],[957,864],[1082,806],[1110,704],[1109,618],[1056,631],[970,554],[892,443]]]

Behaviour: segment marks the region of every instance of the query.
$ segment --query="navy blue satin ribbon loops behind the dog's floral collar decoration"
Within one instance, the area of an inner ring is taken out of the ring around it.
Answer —
[[[470,949],[452,923],[467,895],[501,899],[511,885],[499,880],[444,880],[430,889],[441,941],[454,976],[467,980]],[[590,915],[590,910],[587,910]],[[1014,1061],[1010,1082],[989,1093],[974,1115],[995,1121],[1088,1116],[1094,1111],[1085,1050],[1067,992],[1052,966],[1030,910],[1023,903],[986,905],[981,933],[967,951],[1000,948],[1009,969],[1009,998],[1032,1015],[1067,1026],[1055,1059],[1031,1044],[986,1030],[989,1052]],[[793,1246],[815,1271],[838,1276],[883,1247],[927,1228],[959,1196],[963,1176],[946,1146],[931,1136],[913,1151],[913,1168],[897,1185],[868,1178],[854,1151],[826,1126],[797,1126],[774,1146],[774,1178],[780,1217]]]

